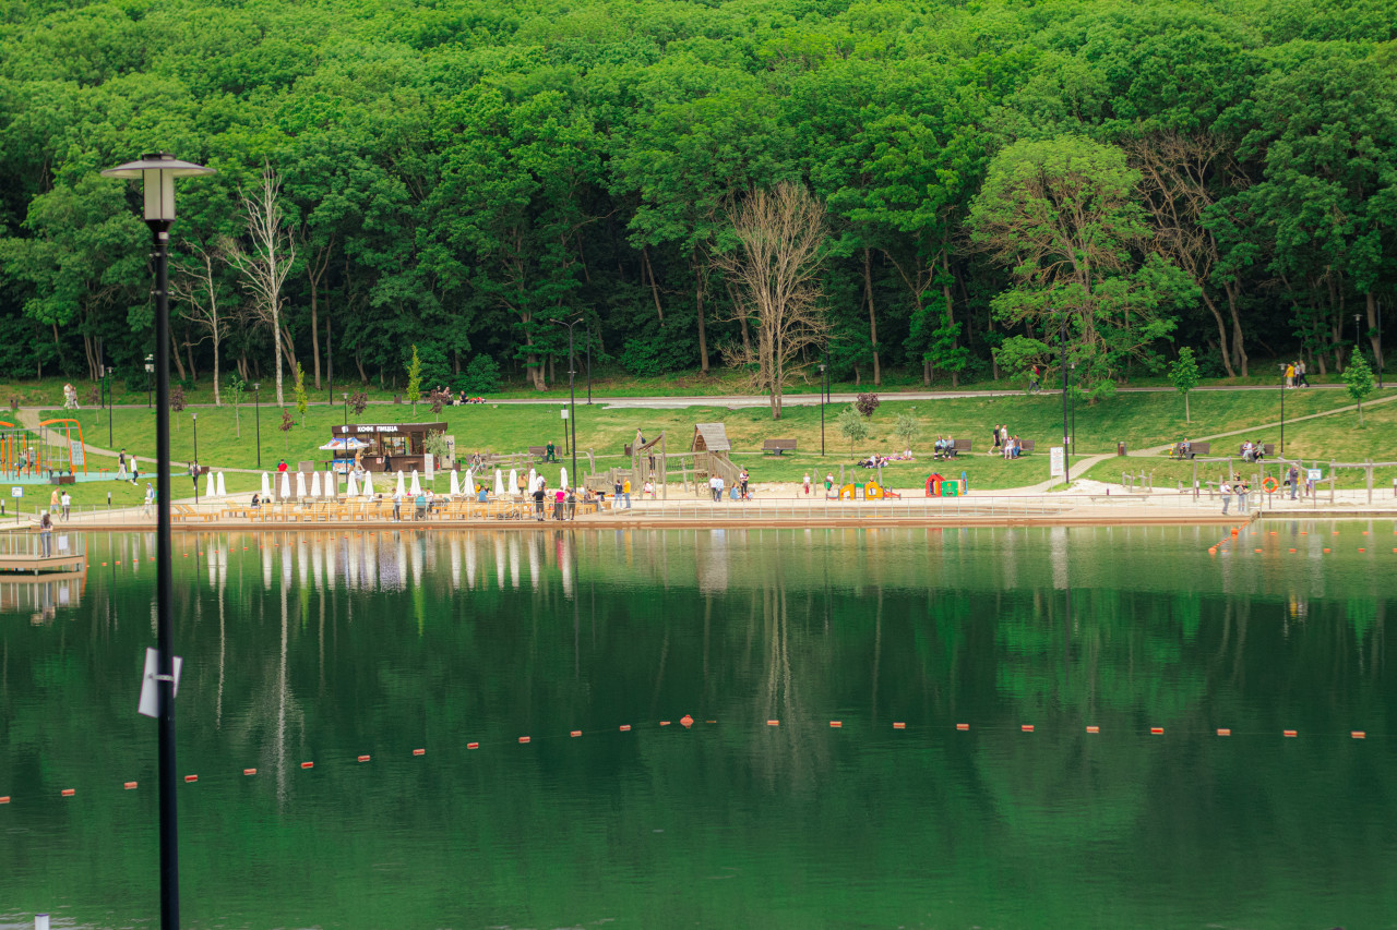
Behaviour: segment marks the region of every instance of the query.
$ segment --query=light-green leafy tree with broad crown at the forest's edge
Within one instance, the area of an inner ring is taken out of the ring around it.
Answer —
[[[990,162],[971,209],[972,242],[1014,282],[993,299],[995,316],[1042,334],[1023,337],[1042,364],[1066,321],[1092,397],[1132,359],[1153,363],[1175,327],[1169,311],[1197,292],[1164,257],[1134,257],[1150,239],[1139,177],[1120,149],[1081,135],[1023,140]]]

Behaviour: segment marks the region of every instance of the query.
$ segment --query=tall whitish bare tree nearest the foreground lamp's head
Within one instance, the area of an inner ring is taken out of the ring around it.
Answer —
[[[291,267],[296,261],[296,244],[291,230],[282,222],[281,212],[281,179],[271,169],[270,163],[263,163],[261,183],[249,193],[237,189],[243,201],[243,216],[247,219],[247,239],[251,250],[244,251],[242,243],[229,243],[228,261],[243,275],[243,288],[253,297],[251,310],[256,317],[271,327],[274,352],[277,357],[277,406],[285,406],[282,394],[281,362],[282,338],[281,307],[285,297],[281,296],[281,286],[291,274]]]

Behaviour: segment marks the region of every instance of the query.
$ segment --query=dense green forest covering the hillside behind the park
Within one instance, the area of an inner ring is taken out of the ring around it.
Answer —
[[[0,25],[0,373],[144,387],[166,149],[175,360],[535,387],[567,331],[636,374],[763,339],[735,211],[823,212],[837,377],[1056,364],[1097,385],[1380,359],[1393,0],[17,0]],[[260,221],[265,236],[251,226]],[[268,250],[275,296],[260,296]],[[263,275],[258,279],[258,275]],[[770,324],[766,324],[770,325]],[[807,334],[810,335],[810,334]],[[274,374],[275,373],[275,374]],[[1051,373],[1051,367],[1049,367]]]

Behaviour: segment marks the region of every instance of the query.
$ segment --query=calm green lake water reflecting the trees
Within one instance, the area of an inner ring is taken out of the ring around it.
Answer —
[[[1397,926],[1394,526],[1218,536],[180,536],[184,926]],[[0,584],[0,927],[158,926],[88,547]]]

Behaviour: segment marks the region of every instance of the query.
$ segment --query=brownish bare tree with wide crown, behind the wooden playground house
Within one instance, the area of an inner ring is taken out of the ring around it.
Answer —
[[[731,366],[756,366],[752,387],[770,392],[771,419],[781,419],[781,397],[793,362],[823,345],[828,321],[820,309],[824,261],[824,204],[799,184],[759,190],[729,211],[738,247],[717,256],[735,285],[738,313],[756,323],[756,345],[731,346]]]

